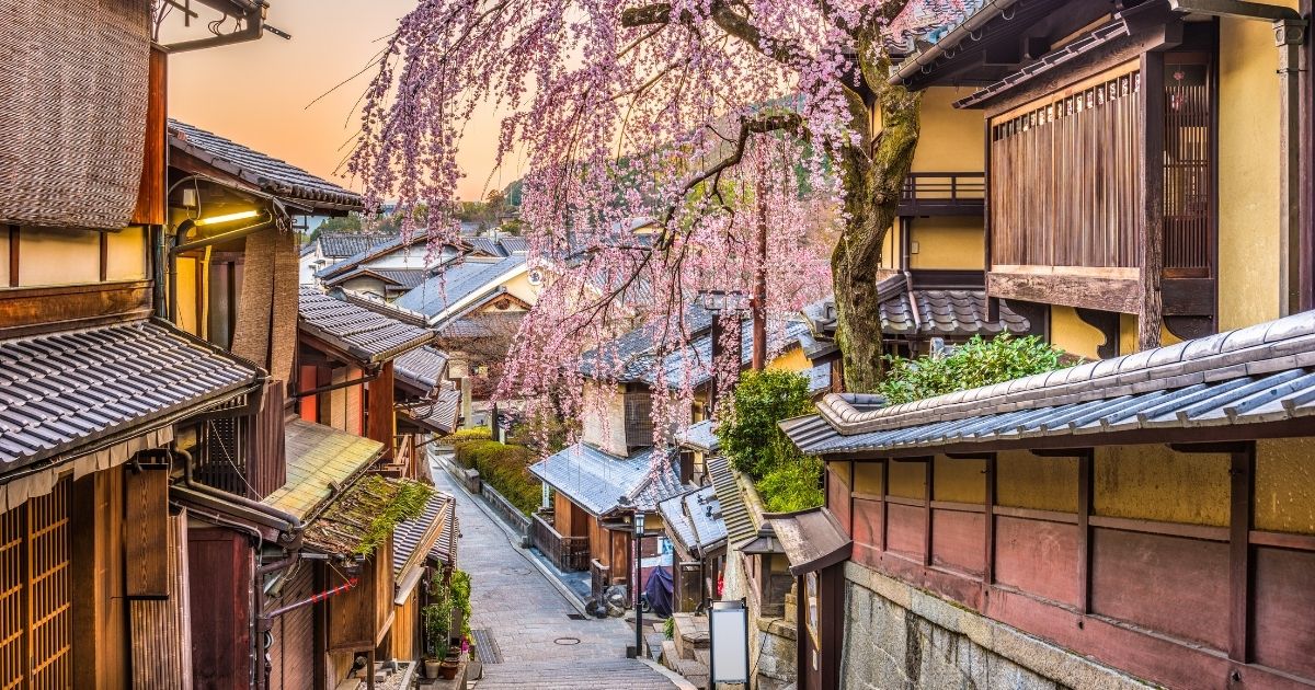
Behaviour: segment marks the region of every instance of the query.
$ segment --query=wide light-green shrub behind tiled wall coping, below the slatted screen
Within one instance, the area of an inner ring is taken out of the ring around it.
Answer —
[[[972,340],[948,354],[931,354],[915,360],[889,356],[890,371],[877,385],[886,402],[898,405],[956,390],[998,384],[1022,376],[1061,367],[1064,351],[1035,335],[1013,338],[1009,334]]]

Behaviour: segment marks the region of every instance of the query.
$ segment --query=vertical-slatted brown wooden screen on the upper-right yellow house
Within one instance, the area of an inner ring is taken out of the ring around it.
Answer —
[[[992,120],[992,262],[1136,267],[1141,79],[1106,72]]]

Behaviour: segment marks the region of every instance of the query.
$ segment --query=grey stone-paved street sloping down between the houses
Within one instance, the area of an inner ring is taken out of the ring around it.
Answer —
[[[626,643],[634,639],[630,626],[621,619],[581,619],[530,556],[455,486],[447,472],[435,467],[433,476],[441,490],[458,497],[458,564],[471,573],[471,628],[487,630],[501,656],[501,662],[484,666],[480,690],[679,687],[642,661],[626,658]]]

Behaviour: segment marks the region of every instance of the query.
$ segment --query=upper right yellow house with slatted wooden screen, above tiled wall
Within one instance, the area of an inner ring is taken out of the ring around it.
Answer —
[[[984,116],[992,309],[1094,359],[1310,308],[1295,7],[984,3],[906,55]]]

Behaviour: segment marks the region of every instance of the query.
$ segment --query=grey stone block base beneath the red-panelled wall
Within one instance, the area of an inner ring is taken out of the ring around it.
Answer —
[[[846,564],[844,574],[840,679],[847,690],[1147,687],[861,565]]]

